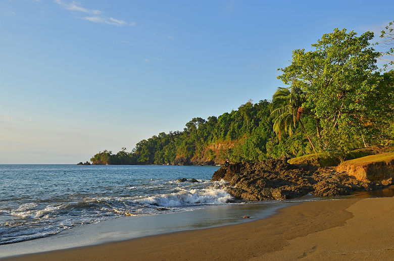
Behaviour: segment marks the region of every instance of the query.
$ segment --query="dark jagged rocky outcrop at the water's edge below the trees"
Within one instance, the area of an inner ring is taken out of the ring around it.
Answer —
[[[228,192],[243,200],[290,199],[309,193],[331,197],[383,187],[379,182],[357,180],[332,167],[297,166],[275,159],[226,163],[214,173],[211,181],[222,179],[229,182]]]

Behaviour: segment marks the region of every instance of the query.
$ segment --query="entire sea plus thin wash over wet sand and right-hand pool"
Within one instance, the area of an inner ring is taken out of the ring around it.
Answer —
[[[228,183],[210,182],[218,169],[0,165],[0,258],[253,221],[281,207],[324,200],[309,194],[237,202],[226,192]],[[181,178],[199,182],[178,183]],[[350,197],[393,195],[390,187]]]

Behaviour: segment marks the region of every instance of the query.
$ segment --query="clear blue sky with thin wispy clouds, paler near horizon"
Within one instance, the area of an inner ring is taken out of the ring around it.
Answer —
[[[394,2],[0,0],[0,164],[127,151],[252,99],[291,51],[379,32]]]

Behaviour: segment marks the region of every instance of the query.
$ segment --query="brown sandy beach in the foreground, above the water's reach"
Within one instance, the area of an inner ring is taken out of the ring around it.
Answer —
[[[305,202],[267,219],[5,260],[394,260],[394,197]]]

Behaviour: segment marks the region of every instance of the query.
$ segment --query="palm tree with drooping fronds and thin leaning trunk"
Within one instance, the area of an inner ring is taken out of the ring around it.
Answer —
[[[272,96],[272,112],[270,118],[274,119],[274,131],[279,136],[279,139],[283,132],[288,133],[288,135],[291,136],[293,134],[293,127],[295,129],[295,124],[300,122],[305,135],[307,135],[307,138],[312,145],[313,151],[317,153],[315,146],[305,130],[303,122],[301,121],[301,115],[303,113],[302,105],[304,101],[303,92],[300,88],[292,86],[290,91],[287,88],[279,87]]]

